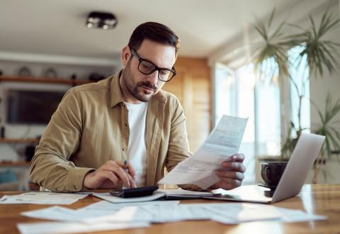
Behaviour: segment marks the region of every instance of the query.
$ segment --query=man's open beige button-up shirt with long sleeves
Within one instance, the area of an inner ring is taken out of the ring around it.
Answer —
[[[121,73],[121,72],[120,72]],[[52,191],[81,191],[85,174],[108,160],[128,160],[128,109],[120,73],[64,95],[30,162],[30,179]],[[146,185],[154,185],[191,155],[186,118],[173,94],[159,91],[148,102]]]

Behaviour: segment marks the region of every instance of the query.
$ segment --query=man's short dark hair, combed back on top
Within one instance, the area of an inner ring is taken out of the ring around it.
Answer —
[[[164,45],[174,46],[176,52],[180,48],[179,37],[173,30],[164,26],[162,23],[147,22],[137,26],[130,37],[128,45],[130,48],[138,50],[145,39],[162,43]]]

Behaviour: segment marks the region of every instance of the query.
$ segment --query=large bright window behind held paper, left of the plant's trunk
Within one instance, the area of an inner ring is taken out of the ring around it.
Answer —
[[[280,91],[277,83],[256,79],[254,65],[230,72],[215,69],[215,122],[222,114],[248,117],[239,152],[246,155],[244,184],[255,182],[255,155],[280,151]]]

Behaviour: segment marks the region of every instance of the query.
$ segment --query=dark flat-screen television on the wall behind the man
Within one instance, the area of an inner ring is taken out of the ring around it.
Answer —
[[[7,90],[7,123],[46,125],[65,91]]]

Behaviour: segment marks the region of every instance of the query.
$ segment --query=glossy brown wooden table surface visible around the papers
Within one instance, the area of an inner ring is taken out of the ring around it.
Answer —
[[[3,195],[19,194],[20,192],[0,192]],[[94,196],[88,196],[72,205],[64,207],[80,208],[96,201]],[[220,202],[208,200],[183,200],[181,203]],[[21,216],[23,211],[33,211],[49,205],[8,204],[0,205],[0,233],[18,233],[17,223],[33,223],[43,220]],[[273,206],[302,209],[317,215],[328,216],[327,221],[280,223],[277,221],[262,221],[242,223],[239,225],[223,225],[214,221],[182,221],[176,223],[153,224],[149,228],[130,230],[114,230],[98,233],[340,233],[340,184],[305,185],[298,196],[280,201]],[[227,211],[226,211],[227,212]]]

